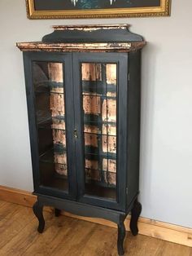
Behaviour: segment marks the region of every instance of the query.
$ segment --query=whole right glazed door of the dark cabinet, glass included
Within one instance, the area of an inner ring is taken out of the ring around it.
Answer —
[[[128,57],[78,53],[73,55],[73,70],[78,200],[122,209]]]

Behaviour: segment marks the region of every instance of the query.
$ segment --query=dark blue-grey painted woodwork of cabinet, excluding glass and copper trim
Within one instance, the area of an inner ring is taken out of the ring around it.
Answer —
[[[55,31],[43,38],[43,42],[110,43],[132,41],[141,42],[143,38],[129,33],[126,29],[109,29],[109,31],[98,29],[92,32],[78,29],[74,31]],[[64,64],[69,192],[41,186],[32,61],[54,61]],[[118,65],[116,201],[85,194],[81,62],[116,63]],[[39,220],[38,231],[42,232],[45,226],[42,215],[44,205],[55,207],[56,214],[59,214],[59,210],[66,210],[72,214],[106,218],[117,223],[118,253],[120,255],[124,254],[124,219],[131,212],[130,228],[133,235],[136,235],[137,218],[142,210],[141,204],[137,201],[139,192],[141,52],[135,51],[127,54],[24,52],[24,72],[33,162],[34,194],[38,196],[37,202],[33,205],[33,210]]]

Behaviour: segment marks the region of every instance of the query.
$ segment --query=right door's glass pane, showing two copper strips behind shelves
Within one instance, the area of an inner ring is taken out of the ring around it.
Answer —
[[[81,64],[85,193],[116,200],[116,64]]]

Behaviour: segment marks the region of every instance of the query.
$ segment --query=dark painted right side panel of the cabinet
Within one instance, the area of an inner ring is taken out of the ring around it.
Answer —
[[[141,51],[129,53],[127,210],[139,191]]]

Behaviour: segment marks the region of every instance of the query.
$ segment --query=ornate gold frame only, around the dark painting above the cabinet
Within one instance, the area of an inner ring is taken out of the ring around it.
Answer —
[[[36,10],[35,1],[26,0],[28,19],[86,19],[86,18],[122,18],[170,15],[171,0],[159,0],[157,7],[128,7],[78,10]],[[39,0],[38,0],[39,1]],[[41,0],[40,0],[41,1]],[[63,0],[64,1],[64,0]],[[89,0],[91,1],[91,0]],[[117,1],[117,0],[116,0]],[[141,0],[142,1],[142,0]]]

